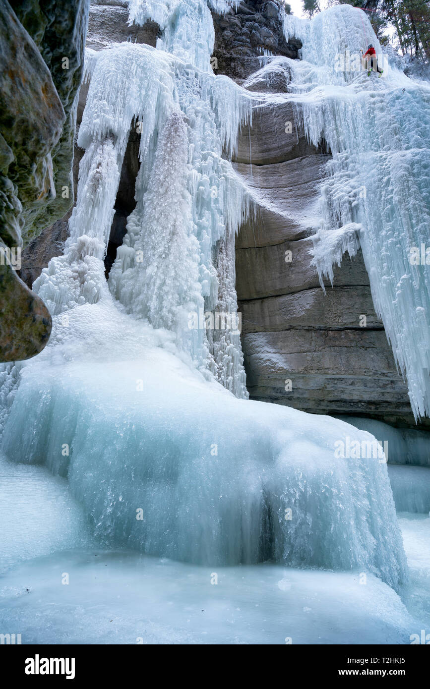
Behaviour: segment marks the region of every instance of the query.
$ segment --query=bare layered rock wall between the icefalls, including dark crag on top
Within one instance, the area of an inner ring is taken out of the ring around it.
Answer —
[[[252,39],[252,22],[278,35],[276,5],[248,1],[215,22],[218,71],[255,92],[288,91],[286,61],[260,69],[258,41]],[[242,67],[234,46],[241,50],[238,33],[247,22]],[[269,43],[264,48],[271,50]],[[288,50],[282,41],[273,46],[276,54],[297,57]],[[249,68],[257,71],[250,75]],[[367,415],[415,426],[407,386],[373,309],[361,253],[342,261],[326,296],[311,263],[310,237],[319,223],[320,181],[329,157],[296,130],[291,105],[282,99],[258,108],[252,127],[240,136],[234,166],[258,205],[256,223],[244,225],[236,238],[249,395],[311,413]]]

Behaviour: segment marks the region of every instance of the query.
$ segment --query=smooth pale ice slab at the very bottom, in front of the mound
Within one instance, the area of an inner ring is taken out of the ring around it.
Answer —
[[[130,551],[67,551],[3,575],[0,621],[29,644],[285,644],[287,637],[408,644],[420,633],[421,620],[387,584],[359,580],[359,573],[267,564],[213,572]]]

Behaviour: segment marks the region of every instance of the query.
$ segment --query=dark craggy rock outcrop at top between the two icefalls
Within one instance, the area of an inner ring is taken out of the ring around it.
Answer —
[[[294,39],[285,40],[278,13],[278,3],[246,0],[236,11],[229,10],[223,16],[213,14],[214,72],[218,70],[240,82],[258,70],[258,55],[276,54],[295,59],[302,44]]]

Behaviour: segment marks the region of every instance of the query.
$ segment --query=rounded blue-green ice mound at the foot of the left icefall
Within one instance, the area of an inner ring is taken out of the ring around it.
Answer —
[[[345,436],[373,436],[235,398],[112,298],[68,316],[21,367],[3,451],[68,475],[99,542],[209,566],[274,559],[404,581],[385,462],[336,457]]]

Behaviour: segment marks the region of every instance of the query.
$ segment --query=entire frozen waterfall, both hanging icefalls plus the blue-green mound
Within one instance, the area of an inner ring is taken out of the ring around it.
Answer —
[[[236,317],[234,237],[254,203],[230,158],[240,126],[267,98],[210,66],[209,6],[222,12],[236,3],[128,4],[130,21],[152,18],[162,36],[155,49],[121,43],[88,52],[70,236],[34,285],[54,317],[52,338],[36,359],[2,371],[2,450],[67,476],[103,545],[198,564],[358,568],[399,589],[407,566],[385,459],[336,456],[345,438],[360,445],[373,436],[247,400],[238,329],[208,328],[206,318],[201,327],[202,313]],[[285,30],[300,30],[304,43],[303,61],[290,61],[288,97],[309,138],[324,136],[334,154],[316,258],[329,226],[350,254],[359,234],[376,307],[413,408],[424,413],[428,283],[404,252],[419,245],[428,220],[416,170],[424,175],[427,164],[430,91],[391,72],[381,92],[360,77],[331,80],[323,57],[341,40],[334,34],[346,41],[339,50],[367,41],[359,10],[288,22]],[[401,122],[412,94],[417,120]],[[131,127],[141,136],[136,208],[107,282],[103,258]],[[363,165],[381,182],[351,205],[367,181]],[[404,203],[395,218],[386,212],[393,189]],[[339,254],[323,255],[320,274],[330,275]]]

